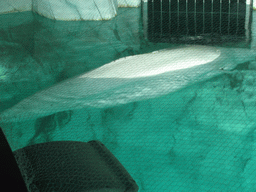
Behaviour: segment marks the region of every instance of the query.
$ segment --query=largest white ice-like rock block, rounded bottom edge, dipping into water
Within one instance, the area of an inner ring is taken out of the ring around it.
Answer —
[[[107,20],[116,16],[116,0],[33,0],[33,11],[56,20]]]

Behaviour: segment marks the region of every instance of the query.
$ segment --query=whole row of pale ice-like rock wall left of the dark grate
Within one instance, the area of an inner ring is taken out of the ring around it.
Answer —
[[[34,11],[55,20],[108,20],[118,7],[138,7],[140,0],[0,0],[0,14]]]

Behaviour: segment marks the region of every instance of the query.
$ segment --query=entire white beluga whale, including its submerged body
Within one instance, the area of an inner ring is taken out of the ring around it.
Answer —
[[[22,100],[3,111],[0,122],[158,97],[254,61],[255,55],[250,49],[190,45],[121,58]]]

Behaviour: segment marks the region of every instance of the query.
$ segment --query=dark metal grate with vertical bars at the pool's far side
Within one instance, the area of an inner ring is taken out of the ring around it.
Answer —
[[[148,0],[145,35],[151,41],[215,43],[251,39],[252,1]]]

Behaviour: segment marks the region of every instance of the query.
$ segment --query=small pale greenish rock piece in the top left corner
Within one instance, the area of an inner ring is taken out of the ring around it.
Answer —
[[[31,11],[32,0],[0,0],[0,14]]]

